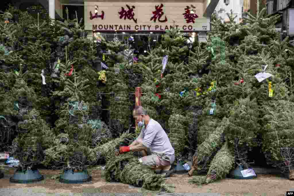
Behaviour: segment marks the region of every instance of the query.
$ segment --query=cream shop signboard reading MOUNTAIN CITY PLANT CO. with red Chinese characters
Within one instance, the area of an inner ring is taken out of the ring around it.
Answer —
[[[85,30],[89,31],[210,31],[206,5],[197,3],[139,3],[85,1]]]

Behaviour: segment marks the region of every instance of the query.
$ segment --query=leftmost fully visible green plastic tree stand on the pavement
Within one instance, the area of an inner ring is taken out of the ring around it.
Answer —
[[[15,171],[14,175],[9,179],[11,183],[29,184],[34,182],[40,182],[44,180],[39,170],[26,170],[26,171]]]

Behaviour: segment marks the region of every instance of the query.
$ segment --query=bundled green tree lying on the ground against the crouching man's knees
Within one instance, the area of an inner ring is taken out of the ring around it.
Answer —
[[[164,177],[142,165],[132,154],[113,157],[106,163],[106,180],[123,182],[148,190],[159,190],[164,184]]]

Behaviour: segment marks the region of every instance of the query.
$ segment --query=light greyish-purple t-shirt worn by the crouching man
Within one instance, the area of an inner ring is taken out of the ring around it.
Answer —
[[[138,138],[142,139],[142,143],[146,148],[150,148],[151,153],[163,155],[175,154],[175,150],[171,146],[166,132],[161,125],[152,118],[149,120],[146,128],[145,125],[143,126]]]

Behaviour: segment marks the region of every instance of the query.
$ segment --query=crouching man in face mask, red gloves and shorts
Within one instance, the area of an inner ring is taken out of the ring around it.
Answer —
[[[129,146],[119,148],[119,153],[139,152],[142,158],[139,162],[143,165],[158,170],[158,174],[169,177],[174,172],[173,162],[175,150],[161,125],[147,115],[142,106],[136,106],[133,117],[139,127],[143,127],[138,138]]]

